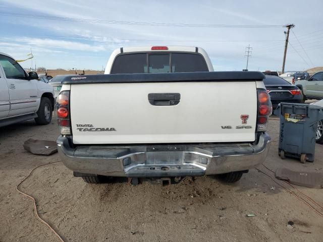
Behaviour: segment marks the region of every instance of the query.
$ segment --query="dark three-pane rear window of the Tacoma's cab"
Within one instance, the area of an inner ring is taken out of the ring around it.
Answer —
[[[126,53],[116,57],[111,74],[208,72],[199,53],[149,52]]]

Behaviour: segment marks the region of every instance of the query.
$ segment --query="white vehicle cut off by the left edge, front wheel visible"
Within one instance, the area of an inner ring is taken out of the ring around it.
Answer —
[[[37,80],[8,54],[0,52],[0,127],[35,119],[38,125],[51,121],[54,107],[52,87]]]

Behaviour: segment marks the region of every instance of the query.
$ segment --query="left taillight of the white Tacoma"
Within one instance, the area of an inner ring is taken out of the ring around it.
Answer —
[[[62,135],[72,135],[70,121],[70,91],[62,91],[56,99],[57,121]]]

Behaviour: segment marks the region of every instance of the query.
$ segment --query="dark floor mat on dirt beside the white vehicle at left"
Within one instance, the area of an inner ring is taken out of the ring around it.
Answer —
[[[57,152],[55,141],[29,139],[24,143],[25,150],[37,155],[51,155]]]

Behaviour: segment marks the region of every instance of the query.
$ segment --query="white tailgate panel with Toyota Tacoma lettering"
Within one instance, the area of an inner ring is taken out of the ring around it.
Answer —
[[[152,105],[148,94],[180,101]],[[74,144],[255,140],[255,81],[76,83],[70,107]]]

